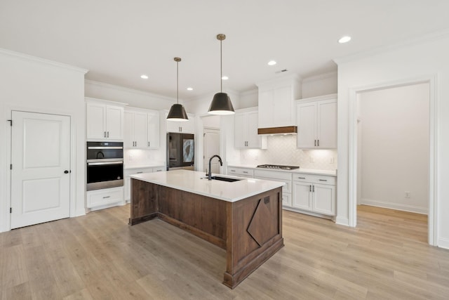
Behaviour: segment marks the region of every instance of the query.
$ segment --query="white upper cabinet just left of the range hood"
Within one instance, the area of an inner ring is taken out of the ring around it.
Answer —
[[[267,149],[267,136],[257,134],[257,108],[236,111],[234,115],[234,146],[239,149]]]

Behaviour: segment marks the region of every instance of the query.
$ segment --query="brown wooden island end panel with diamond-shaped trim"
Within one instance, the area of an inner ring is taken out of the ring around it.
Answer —
[[[283,247],[282,188],[227,203],[227,268],[234,288]]]

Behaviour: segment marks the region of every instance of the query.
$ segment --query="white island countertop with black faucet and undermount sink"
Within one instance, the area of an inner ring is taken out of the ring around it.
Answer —
[[[215,174],[212,175],[215,176]],[[227,178],[239,178],[236,176],[216,175]],[[167,186],[168,188],[185,190],[186,192],[225,200],[227,202],[236,202],[285,185],[285,183],[279,181],[266,181],[253,178],[242,178],[241,181],[234,182],[217,180],[208,181],[204,172],[189,170],[135,174],[130,177],[149,183]]]

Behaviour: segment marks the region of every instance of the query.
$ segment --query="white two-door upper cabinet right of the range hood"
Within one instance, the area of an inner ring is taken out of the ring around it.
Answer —
[[[337,148],[337,95],[297,100],[297,148]]]

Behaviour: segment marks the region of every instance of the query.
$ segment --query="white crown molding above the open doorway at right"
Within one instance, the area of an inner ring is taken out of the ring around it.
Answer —
[[[342,63],[349,63],[354,60],[360,60],[369,56],[375,56],[381,53],[387,53],[389,51],[394,51],[401,48],[406,48],[408,46],[415,46],[419,44],[424,44],[428,41],[436,41],[438,39],[445,39],[449,37],[449,29],[440,30],[437,32],[430,32],[428,34],[421,35],[419,37],[412,37],[410,39],[404,39],[402,41],[398,41],[394,44],[389,44],[386,46],[379,46],[376,48],[371,48],[366,51],[359,51],[354,54],[350,54],[349,56],[342,56],[340,58],[334,58],[333,61],[340,65]]]

